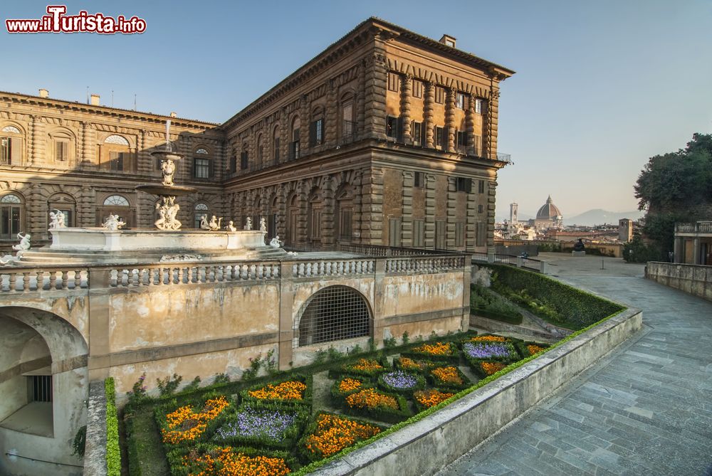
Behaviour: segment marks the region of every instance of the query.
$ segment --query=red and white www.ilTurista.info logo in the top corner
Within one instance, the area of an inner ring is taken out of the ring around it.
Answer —
[[[47,15],[39,19],[8,19],[5,26],[8,33],[143,33],[146,21],[132,16],[116,18],[104,14],[89,14],[81,10],[77,15],[66,15],[66,5],[48,5]]]

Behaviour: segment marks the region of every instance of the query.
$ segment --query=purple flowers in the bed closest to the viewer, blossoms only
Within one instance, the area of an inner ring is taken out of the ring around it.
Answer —
[[[247,406],[237,413],[237,421],[226,423],[218,428],[215,438],[252,436],[279,440],[296,419],[296,413],[293,412]]]

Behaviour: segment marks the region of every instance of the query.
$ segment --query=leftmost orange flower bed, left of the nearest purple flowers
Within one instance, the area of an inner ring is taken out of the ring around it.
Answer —
[[[206,398],[199,410],[192,405],[173,411],[169,411],[171,406],[160,406],[155,414],[163,443],[181,445],[204,440],[206,433],[211,433],[207,430],[216,425],[216,418],[228,406],[230,403],[224,395]]]

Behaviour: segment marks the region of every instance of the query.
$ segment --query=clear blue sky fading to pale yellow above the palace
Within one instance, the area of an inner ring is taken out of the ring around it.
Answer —
[[[40,18],[46,2],[4,4]],[[369,16],[516,71],[501,83],[497,216],[637,209],[649,157],[712,132],[712,1],[68,1],[145,33],[7,33],[0,90],[224,122]],[[4,23],[4,22],[3,22]],[[113,99],[112,99],[113,97]]]

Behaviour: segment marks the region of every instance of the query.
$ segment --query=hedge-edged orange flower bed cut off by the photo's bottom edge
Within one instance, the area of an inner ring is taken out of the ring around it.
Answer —
[[[286,452],[200,444],[166,455],[173,476],[284,476],[300,465]]]

